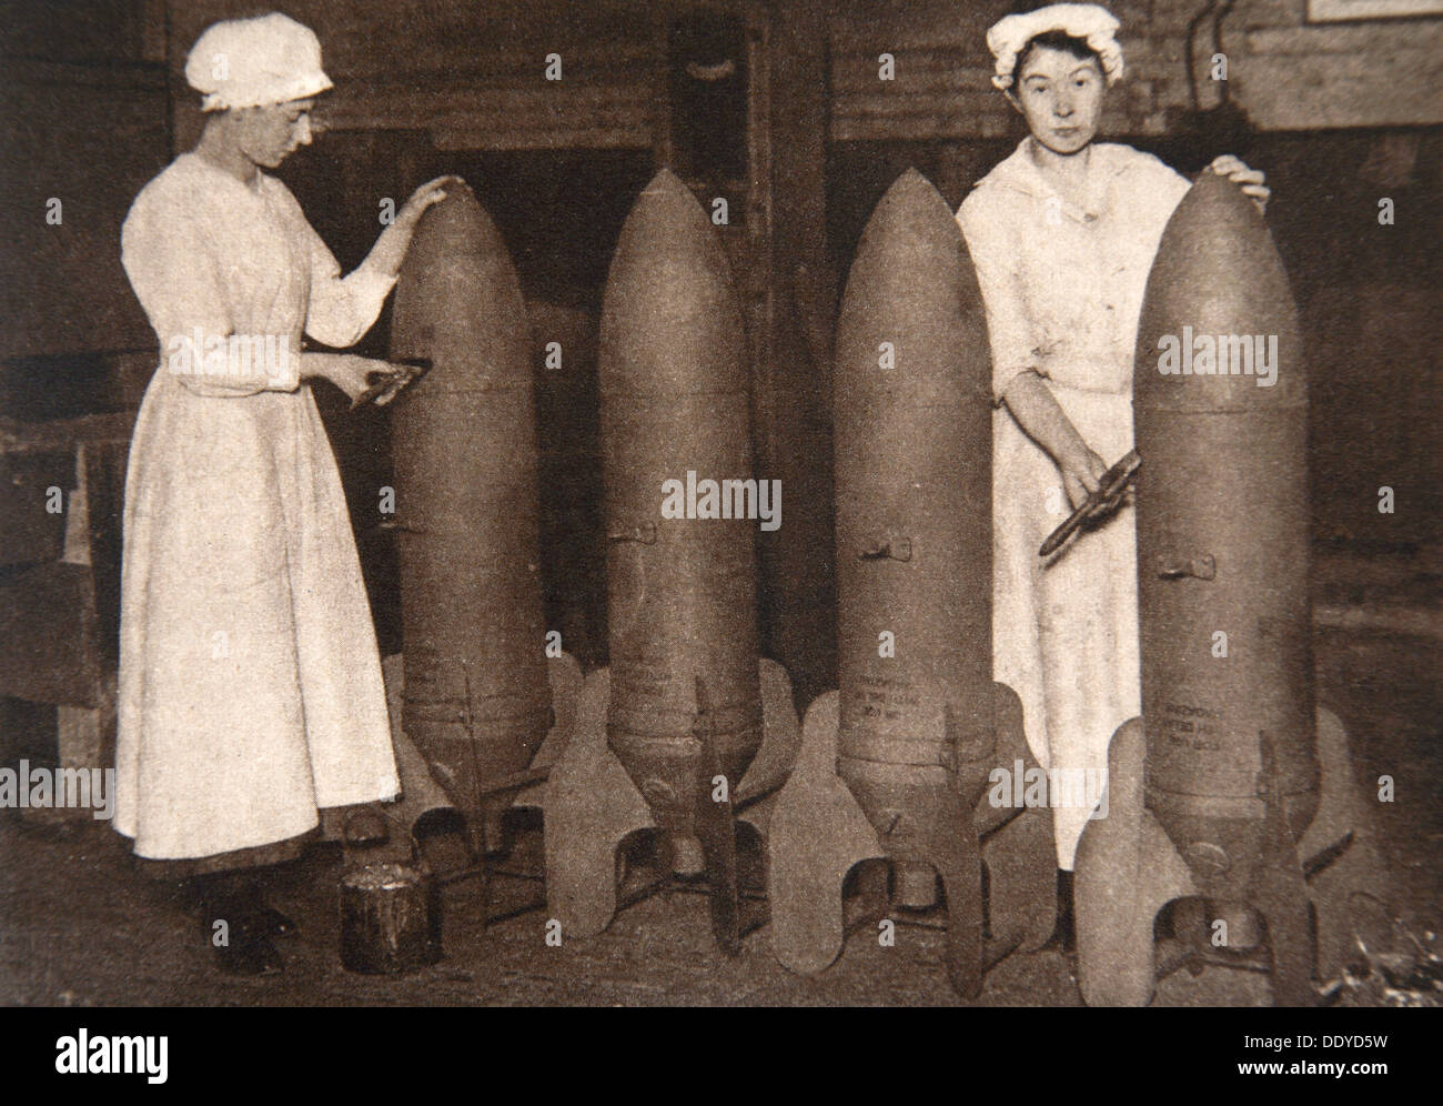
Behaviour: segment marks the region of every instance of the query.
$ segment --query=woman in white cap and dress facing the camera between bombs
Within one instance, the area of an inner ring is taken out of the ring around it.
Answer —
[[[1189,182],[1130,146],[1095,143],[1123,75],[1117,20],[1052,4],[987,32],[993,84],[1030,134],[957,214],[977,266],[993,352],[994,676],[1017,690],[1039,762],[1101,781],[1107,745],[1140,706],[1136,531],[1130,507],[1043,562],[1061,491],[1079,507],[1133,448],[1133,347],[1147,274]],[[1260,206],[1263,173],[1211,172]],[[1059,931],[1089,810],[1053,807]]]

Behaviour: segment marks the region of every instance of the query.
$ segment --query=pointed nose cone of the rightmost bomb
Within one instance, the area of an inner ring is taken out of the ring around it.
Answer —
[[[1253,201],[1216,173],[1205,172],[1167,221],[1143,297],[1134,365],[1140,410],[1307,404],[1283,260]]]

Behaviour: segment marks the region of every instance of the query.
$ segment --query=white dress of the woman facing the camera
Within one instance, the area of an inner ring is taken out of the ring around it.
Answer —
[[[1147,273],[1188,180],[1130,146],[1097,143],[1082,206],[1058,196],[1023,143],[957,221],[977,266],[993,394],[1035,370],[1108,465],[1133,448],[1133,347]],[[1140,709],[1134,511],[1124,507],[1048,562],[1069,514],[1062,475],[1006,406],[993,413],[993,677],[1022,699],[1051,778],[1097,797],[1108,741]],[[1049,790],[1058,863],[1072,869],[1089,809]],[[1063,804],[1059,806],[1059,801]]]

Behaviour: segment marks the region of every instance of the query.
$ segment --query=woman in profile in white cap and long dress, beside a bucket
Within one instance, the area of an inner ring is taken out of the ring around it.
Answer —
[[[341,277],[273,169],[330,88],[316,36],[270,14],[196,40],[205,130],[131,205],[131,286],[160,338],[126,481],[115,827],[201,876],[222,969],[280,967],[293,928],[258,865],[297,855],[317,809],[400,791],[375,635],[336,462],[309,381],[355,397],[356,342],[395,282],[423,185]],[[225,923],[221,926],[219,923]]]

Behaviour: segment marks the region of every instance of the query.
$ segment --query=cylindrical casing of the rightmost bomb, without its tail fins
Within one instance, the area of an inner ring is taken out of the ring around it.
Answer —
[[[1241,894],[1266,793],[1294,840],[1317,809],[1307,380],[1277,250],[1212,173],[1149,276],[1134,419],[1146,801],[1211,894]]]

